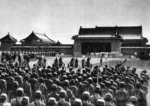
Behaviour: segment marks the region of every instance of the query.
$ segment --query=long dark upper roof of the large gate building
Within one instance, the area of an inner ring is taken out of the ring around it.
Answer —
[[[115,26],[115,27],[80,27],[79,35],[137,35],[142,36],[142,26]]]

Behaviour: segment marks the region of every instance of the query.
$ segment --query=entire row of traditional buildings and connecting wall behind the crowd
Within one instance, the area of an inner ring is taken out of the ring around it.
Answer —
[[[72,37],[74,44],[62,44],[50,39],[46,34],[31,32],[16,44],[17,40],[9,33],[0,39],[0,51],[27,53],[59,52],[69,56],[91,55],[93,53],[117,52],[124,56],[148,57],[150,45],[143,36],[142,26],[80,27],[78,35]]]

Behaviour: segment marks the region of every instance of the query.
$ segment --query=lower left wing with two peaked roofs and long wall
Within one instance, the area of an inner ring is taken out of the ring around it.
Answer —
[[[46,56],[54,56],[56,53],[64,53],[65,55],[73,54],[72,44],[62,44],[50,39],[46,34],[31,32],[26,38],[16,44],[17,40],[11,35],[6,35],[1,40],[1,51],[36,53]],[[7,46],[6,46],[7,45]]]

